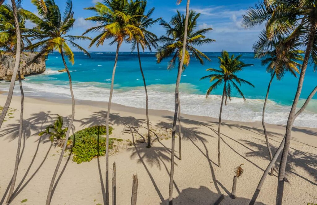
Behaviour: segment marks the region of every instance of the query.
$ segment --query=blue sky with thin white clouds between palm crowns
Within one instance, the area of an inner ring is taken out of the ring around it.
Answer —
[[[55,0],[61,11],[65,6],[65,0]],[[94,16],[94,13],[84,10],[85,7],[93,6],[98,0],[73,0],[73,10],[76,22],[73,30],[70,32],[74,35],[82,34],[87,28],[94,26],[92,22],[84,19],[89,16]],[[238,3],[237,3],[238,2]],[[261,27],[253,29],[244,29],[241,27],[242,15],[250,6],[254,6],[257,1],[254,0],[200,0],[191,1],[190,7],[201,13],[198,19],[200,28],[211,27],[213,30],[207,34],[208,38],[215,39],[216,42],[207,46],[199,47],[201,51],[218,52],[227,50],[230,52],[251,52],[252,44],[256,41]],[[176,5],[176,0],[148,0],[148,8],[155,7],[152,15],[153,18],[162,17],[165,21],[170,21],[171,16],[176,13],[176,9],[185,12],[186,1]],[[36,7],[30,3],[30,0],[23,1],[23,8],[36,13]],[[30,23],[27,26],[31,26]],[[164,29],[159,25],[150,28],[157,36],[164,34]],[[96,34],[88,34],[94,37]],[[104,44],[100,47],[91,47],[88,49],[89,42],[79,42],[88,51],[115,51],[115,46]],[[130,45],[124,44],[120,51],[130,51]]]

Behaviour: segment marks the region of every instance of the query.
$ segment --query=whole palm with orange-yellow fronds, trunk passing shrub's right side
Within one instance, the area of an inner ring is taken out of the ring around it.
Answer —
[[[111,99],[113,93],[114,75],[118,62],[119,48],[124,41],[131,42],[136,35],[144,37],[140,28],[133,25],[137,15],[129,14],[129,3],[127,0],[103,0],[103,3],[96,3],[94,7],[86,8],[94,11],[97,16],[86,18],[88,21],[97,22],[99,25],[87,29],[84,34],[92,31],[101,32],[90,43],[90,47],[103,45],[106,39],[113,39],[110,45],[117,44],[116,56],[114,60],[111,88],[108,100],[108,111],[106,117],[106,204],[109,204],[109,115],[111,108]]]

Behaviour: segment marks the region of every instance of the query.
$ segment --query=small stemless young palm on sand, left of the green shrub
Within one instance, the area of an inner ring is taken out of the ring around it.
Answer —
[[[39,136],[49,135],[49,140],[51,140],[52,144],[56,147],[63,147],[65,143],[65,138],[67,134],[68,127],[63,129],[64,120],[63,117],[57,115],[57,119],[53,125],[46,127],[45,131],[40,132]],[[71,148],[71,140],[67,142],[67,148]]]

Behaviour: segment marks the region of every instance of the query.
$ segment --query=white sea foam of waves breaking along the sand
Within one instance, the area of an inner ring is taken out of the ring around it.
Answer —
[[[107,79],[108,81],[111,79]],[[23,87],[29,95],[36,91],[41,97],[55,98],[70,98],[69,87],[64,85],[52,84],[36,84],[25,82]],[[119,85],[115,85],[115,88]],[[1,90],[2,86],[0,86]],[[148,103],[149,109],[162,109],[174,111],[174,90],[175,84],[149,85]],[[81,82],[73,84],[74,96],[78,100],[92,100],[107,102],[109,97],[109,83],[99,82]],[[19,90],[15,90],[16,94]],[[219,109],[221,96],[210,95],[208,98],[205,95],[192,94],[195,93],[195,87],[191,84],[180,84],[180,101],[182,105],[182,113],[190,115],[219,117]],[[301,99],[299,106],[304,103]],[[114,89],[112,102],[125,106],[136,108],[145,108],[145,91],[144,87],[122,87]],[[254,122],[262,120],[262,109],[264,100],[262,99],[247,99],[246,102],[242,98],[233,97],[228,101],[227,106],[223,107],[222,118],[233,121]],[[313,99],[294,122],[295,126],[317,127],[317,100]],[[271,124],[283,124],[287,122],[290,106],[280,105],[276,102],[268,100],[266,108],[265,121]]]

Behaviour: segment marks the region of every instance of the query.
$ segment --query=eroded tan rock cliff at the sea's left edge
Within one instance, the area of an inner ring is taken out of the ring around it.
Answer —
[[[45,59],[38,59],[35,63],[32,63],[29,66],[26,66],[28,62],[30,62],[36,53],[23,53],[21,54],[20,61],[20,69],[22,69],[21,75],[30,75],[30,74],[38,74],[42,73],[46,69]],[[11,80],[14,63],[15,63],[15,55],[2,54],[0,57],[0,79],[2,80]]]

